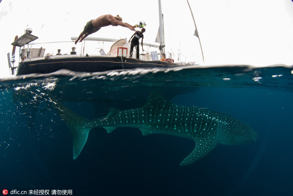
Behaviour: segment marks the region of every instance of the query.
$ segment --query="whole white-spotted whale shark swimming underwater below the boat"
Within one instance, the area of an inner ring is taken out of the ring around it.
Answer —
[[[142,135],[168,134],[193,139],[195,148],[180,166],[195,163],[219,144],[240,145],[258,139],[251,127],[236,118],[209,109],[173,104],[158,91],[152,91],[141,108],[124,111],[110,108],[107,116],[93,120],[62,105],[50,93],[49,98],[73,134],[73,159],[81,153],[89,131],[96,127],[105,128],[108,133],[117,127],[134,127]]]

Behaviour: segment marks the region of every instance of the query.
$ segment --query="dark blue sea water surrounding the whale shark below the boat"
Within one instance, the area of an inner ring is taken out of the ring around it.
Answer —
[[[293,195],[292,68],[208,68],[0,83],[0,188],[72,195]],[[274,76],[274,77],[272,77]],[[230,80],[223,80],[230,78]],[[136,128],[90,131],[73,160],[72,134],[48,91],[81,116],[139,108],[158,90],[174,104],[219,111],[248,124],[257,142],[219,145],[180,167],[195,142]],[[29,195],[29,194],[27,194]]]

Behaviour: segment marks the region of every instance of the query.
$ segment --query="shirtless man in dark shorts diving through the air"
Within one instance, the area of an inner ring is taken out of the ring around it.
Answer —
[[[81,42],[84,38],[86,38],[88,35],[97,32],[101,29],[101,27],[105,26],[122,26],[122,27],[128,27],[130,30],[134,31],[134,27],[128,23],[123,23],[122,18],[117,16],[112,16],[111,14],[106,14],[103,16],[100,16],[96,19],[90,20],[86,23],[84,26],[84,30],[80,33],[79,37],[75,40],[75,44],[79,41]]]

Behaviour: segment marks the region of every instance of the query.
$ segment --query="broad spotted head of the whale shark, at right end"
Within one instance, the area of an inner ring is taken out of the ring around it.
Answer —
[[[256,142],[258,139],[258,134],[250,126],[235,118],[227,124],[222,124],[220,129],[219,140],[221,144],[237,145]]]

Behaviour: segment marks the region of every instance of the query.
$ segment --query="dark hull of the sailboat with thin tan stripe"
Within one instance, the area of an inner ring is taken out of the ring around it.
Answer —
[[[30,73],[52,73],[60,69],[77,72],[101,72],[117,69],[176,67],[163,61],[141,61],[125,57],[75,56],[46,58],[35,61],[22,61],[18,64],[16,75]]]

